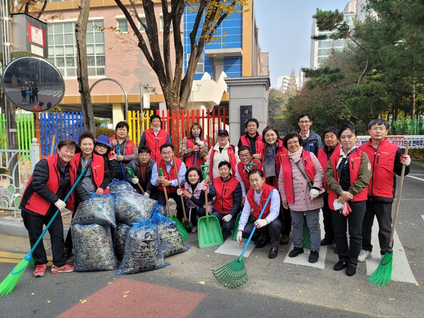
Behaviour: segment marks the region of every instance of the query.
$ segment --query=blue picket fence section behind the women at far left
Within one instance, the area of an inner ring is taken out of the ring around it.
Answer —
[[[40,112],[41,153],[50,154],[53,136],[56,136],[54,153],[57,144],[63,139],[71,139],[78,143],[78,136],[83,132],[82,112]]]

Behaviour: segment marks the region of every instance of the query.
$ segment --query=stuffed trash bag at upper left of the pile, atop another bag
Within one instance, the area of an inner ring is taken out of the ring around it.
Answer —
[[[93,194],[78,205],[72,224],[111,225],[116,228],[114,210],[114,198],[110,194]]]

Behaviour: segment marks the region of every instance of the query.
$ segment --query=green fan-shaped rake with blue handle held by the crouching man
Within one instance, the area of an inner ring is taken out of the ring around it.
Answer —
[[[257,218],[258,220],[260,220],[262,217],[262,214],[264,214],[265,208],[269,200],[271,199],[271,196],[272,196],[272,191],[269,194],[268,199],[266,199],[264,207],[262,208],[261,213],[259,214],[259,217]],[[254,226],[252,232],[250,232],[249,238],[247,239],[245,248],[243,249],[243,252],[240,255],[240,257],[220,267],[219,269],[212,270],[213,276],[215,276],[216,280],[220,282],[221,284],[223,284],[225,287],[237,288],[245,284],[247,281],[249,281],[249,277],[247,277],[245,262],[243,261],[243,255],[245,254],[246,249],[249,246],[249,242],[250,240],[252,240],[253,233],[256,229],[257,227]]]

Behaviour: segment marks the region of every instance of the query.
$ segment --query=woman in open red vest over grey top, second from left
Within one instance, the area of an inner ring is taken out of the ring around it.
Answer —
[[[109,193],[107,185],[110,184],[109,167],[106,159],[102,155],[94,153],[95,138],[90,131],[83,131],[79,136],[79,148],[81,153],[77,153],[71,160],[71,186],[75,183],[82,170],[88,165],[88,160],[92,160],[89,168],[86,170],[81,181],[76,185],[75,192],[69,198],[68,207],[72,212],[72,218],[80,202],[86,201],[92,194]],[[65,240],[65,257],[69,259],[72,256],[72,235],[69,228]]]

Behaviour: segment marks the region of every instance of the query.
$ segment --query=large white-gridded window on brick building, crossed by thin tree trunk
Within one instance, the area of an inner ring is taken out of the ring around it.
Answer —
[[[105,36],[100,31],[102,20],[90,20],[87,25],[88,75],[105,75]],[[49,61],[64,77],[76,76],[75,22],[48,25]]]

